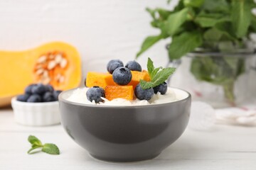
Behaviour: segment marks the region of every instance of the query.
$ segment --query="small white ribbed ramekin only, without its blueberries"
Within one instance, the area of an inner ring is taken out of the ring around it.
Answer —
[[[11,99],[14,120],[21,125],[47,126],[60,123],[58,101],[27,103]]]

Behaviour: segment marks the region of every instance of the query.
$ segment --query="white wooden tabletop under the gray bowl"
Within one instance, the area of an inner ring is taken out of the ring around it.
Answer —
[[[43,152],[27,154],[28,135],[52,142],[60,155]],[[90,157],[65,133],[61,125],[31,128],[14,123],[9,109],[0,110],[0,169],[256,169],[256,128],[215,125],[210,131],[187,129],[183,135],[155,159],[114,164]]]

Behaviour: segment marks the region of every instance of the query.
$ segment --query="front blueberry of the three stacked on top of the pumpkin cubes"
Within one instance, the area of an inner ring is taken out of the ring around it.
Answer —
[[[112,75],[114,82],[119,85],[127,85],[132,80],[132,72],[126,67],[118,67]]]

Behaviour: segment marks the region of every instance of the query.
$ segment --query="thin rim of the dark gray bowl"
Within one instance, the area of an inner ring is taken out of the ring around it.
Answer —
[[[168,102],[168,103],[159,103],[159,104],[149,104],[149,105],[136,105],[136,106],[130,106],[130,105],[129,106],[112,106],[112,105],[110,106],[110,105],[100,105],[100,104],[95,105],[95,104],[76,103],[76,102],[73,102],[73,101],[68,101],[67,99],[63,98],[63,94],[68,93],[70,91],[74,91],[75,89],[78,89],[78,88],[73,88],[73,89],[69,89],[67,91],[62,91],[58,96],[58,101],[63,102],[63,103],[68,103],[68,104],[71,104],[71,105],[74,105],[74,106],[85,106],[85,107],[88,107],[88,108],[149,108],[149,107],[166,106],[166,105],[170,105],[170,104],[173,104],[173,103],[179,103],[179,102],[182,102],[182,101],[187,101],[189,98],[191,98],[191,94],[188,91],[183,90],[183,89],[179,89],[179,88],[176,88],[176,87],[170,87],[170,88],[171,89],[178,89],[180,91],[183,91],[186,94],[188,94],[188,96],[186,96],[186,98],[183,98],[183,99],[178,100],[178,101],[171,101],[171,102]]]

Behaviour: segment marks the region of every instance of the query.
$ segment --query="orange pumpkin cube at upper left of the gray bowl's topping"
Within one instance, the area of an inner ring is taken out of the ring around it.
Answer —
[[[99,72],[88,72],[86,77],[86,86],[100,86],[105,89],[106,86],[115,86],[112,79],[112,74],[109,73],[99,73]]]

